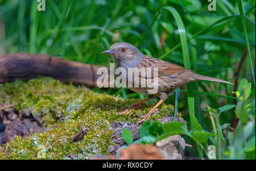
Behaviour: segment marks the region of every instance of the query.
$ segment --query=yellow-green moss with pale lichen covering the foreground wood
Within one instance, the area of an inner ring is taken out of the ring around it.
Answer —
[[[143,109],[117,115],[137,101],[94,93],[84,86],[61,84],[49,77],[1,84],[0,103],[15,105],[16,110],[29,107],[33,114],[43,115],[48,130],[26,139],[15,136],[6,153],[7,144],[0,148],[0,159],[38,159],[42,152],[45,152],[45,159],[67,159],[65,155],[71,152],[79,155],[79,159],[89,159],[99,152],[106,154],[112,143],[110,124],[126,120],[137,122],[139,116],[147,114],[154,105],[147,104]],[[161,105],[151,119],[162,118],[173,111],[172,105]],[[64,122],[60,123],[61,117]],[[69,143],[82,125],[90,128],[88,134],[78,143]]]

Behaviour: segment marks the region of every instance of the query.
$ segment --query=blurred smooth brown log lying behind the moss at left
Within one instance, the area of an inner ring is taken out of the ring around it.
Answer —
[[[57,56],[14,53],[0,57],[0,83],[49,76],[61,82],[96,87],[97,69],[105,66],[82,64]]]

